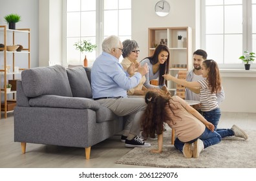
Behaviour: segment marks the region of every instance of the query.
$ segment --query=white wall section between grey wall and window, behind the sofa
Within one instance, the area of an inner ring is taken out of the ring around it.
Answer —
[[[61,65],[62,1],[39,0],[39,66]]]

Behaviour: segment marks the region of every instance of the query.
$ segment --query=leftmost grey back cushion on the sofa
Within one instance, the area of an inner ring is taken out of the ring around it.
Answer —
[[[23,91],[27,97],[57,95],[72,97],[65,67],[36,67],[21,72]]]

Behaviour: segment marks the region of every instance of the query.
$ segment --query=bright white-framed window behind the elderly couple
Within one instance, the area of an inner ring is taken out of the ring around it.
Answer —
[[[64,9],[64,66],[83,64],[85,55],[91,66],[101,54],[101,43],[107,36],[131,39],[131,0],[65,0]],[[74,43],[83,39],[96,44],[96,50],[86,54],[76,50]]]

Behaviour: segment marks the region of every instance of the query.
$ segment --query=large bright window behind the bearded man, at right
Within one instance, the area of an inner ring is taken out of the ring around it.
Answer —
[[[201,39],[220,68],[244,69],[239,57],[256,52],[256,0],[202,0]]]

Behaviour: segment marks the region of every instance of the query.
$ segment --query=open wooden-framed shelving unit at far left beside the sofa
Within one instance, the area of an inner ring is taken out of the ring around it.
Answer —
[[[16,80],[16,76],[20,75],[22,70],[30,68],[30,29],[22,28],[10,30],[7,29],[5,25],[0,25],[0,43],[5,45],[4,48],[0,48],[0,108],[1,112],[4,112],[5,118],[7,118],[7,112],[13,111],[8,110],[8,103],[12,103],[12,105],[16,104],[16,91],[6,92],[6,84],[8,84],[8,80]],[[21,50],[21,52],[10,52],[6,50],[6,46],[8,45],[22,45],[23,50]],[[20,60],[19,56],[23,58]],[[25,66],[25,68],[19,67],[19,72],[14,72],[16,59],[22,61],[23,65],[26,65],[25,61],[27,61],[27,66]],[[6,65],[11,65],[9,72],[6,70]],[[2,96],[4,97],[3,100]]]

